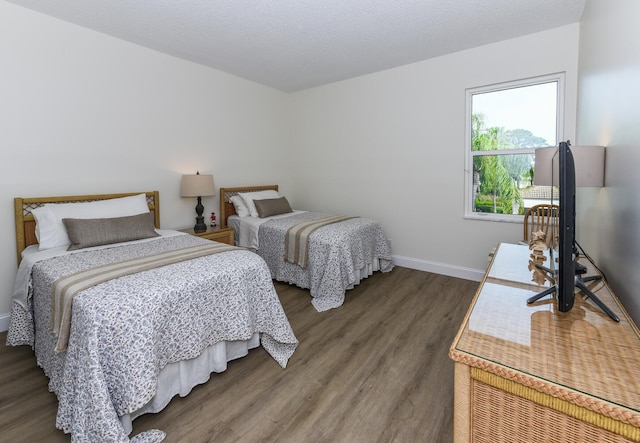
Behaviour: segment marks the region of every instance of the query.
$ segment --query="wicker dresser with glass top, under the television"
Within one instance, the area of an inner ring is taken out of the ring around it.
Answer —
[[[587,285],[619,323],[579,294],[569,312],[527,305],[550,285],[535,262],[499,245],[451,346],[454,441],[640,441],[637,327],[603,280]]]

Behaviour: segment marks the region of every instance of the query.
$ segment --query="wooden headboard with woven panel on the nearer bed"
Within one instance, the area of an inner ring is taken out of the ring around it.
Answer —
[[[79,203],[95,200],[109,200],[111,198],[129,197],[132,195],[146,194],[149,210],[153,212],[153,219],[156,228],[160,227],[160,195],[158,191],[129,192],[126,194],[97,194],[79,195],[69,197],[33,197],[13,199],[16,217],[16,250],[18,252],[18,264],[22,260],[22,251],[27,246],[38,243],[36,238],[36,221],[31,211],[45,203]]]

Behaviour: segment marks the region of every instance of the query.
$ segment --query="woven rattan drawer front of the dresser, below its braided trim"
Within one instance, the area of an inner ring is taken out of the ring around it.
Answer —
[[[474,443],[628,443],[605,429],[478,380],[471,381]]]

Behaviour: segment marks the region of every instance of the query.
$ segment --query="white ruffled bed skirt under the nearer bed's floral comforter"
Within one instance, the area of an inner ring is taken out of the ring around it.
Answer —
[[[199,357],[170,363],[160,371],[156,395],[143,407],[120,417],[127,434],[133,429],[133,420],[142,414],[162,411],[175,395],[185,397],[195,386],[206,383],[212,372],[227,370],[227,362],[244,357],[250,349],[260,346],[260,334],[247,341],[219,342],[209,346]]]

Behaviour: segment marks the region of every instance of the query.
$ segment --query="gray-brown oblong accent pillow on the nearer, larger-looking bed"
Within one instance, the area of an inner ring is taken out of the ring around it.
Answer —
[[[68,251],[159,235],[151,212],[114,218],[63,218],[62,223],[71,240]]]

